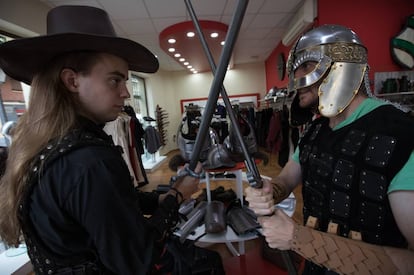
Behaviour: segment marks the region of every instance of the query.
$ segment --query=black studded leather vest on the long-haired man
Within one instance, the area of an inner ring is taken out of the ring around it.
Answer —
[[[28,184],[19,205],[19,220],[27,245],[28,255],[36,274],[110,274],[96,257],[95,251],[83,255],[62,258],[52,253],[42,242],[31,223],[29,216],[30,196],[33,188],[39,183],[41,172],[57,158],[84,146],[114,145],[108,140],[97,137],[93,133],[75,130],[60,142],[51,142],[34,161]]]

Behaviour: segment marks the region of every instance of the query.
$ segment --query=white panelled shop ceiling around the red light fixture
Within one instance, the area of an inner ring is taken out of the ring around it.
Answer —
[[[88,5],[108,12],[119,36],[135,40],[157,55],[160,67],[184,70],[163,52],[158,36],[173,24],[191,20],[184,0],[36,0],[50,7]],[[264,61],[281,41],[302,0],[250,0],[233,50],[235,65]],[[198,20],[230,25],[239,0],[192,0]]]

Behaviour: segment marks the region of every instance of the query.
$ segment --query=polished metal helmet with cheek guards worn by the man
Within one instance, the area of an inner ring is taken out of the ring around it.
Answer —
[[[308,61],[318,64],[310,73],[295,78],[295,70]],[[370,94],[367,49],[355,32],[343,26],[323,25],[305,33],[289,54],[287,71],[289,91],[321,82],[318,110],[326,117],[341,113],[363,80]]]

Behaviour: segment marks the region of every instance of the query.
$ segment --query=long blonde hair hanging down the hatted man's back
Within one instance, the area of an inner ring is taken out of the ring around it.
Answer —
[[[62,138],[76,125],[80,104],[60,79],[64,68],[87,75],[99,54],[77,52],[60,56],[34,76],[27,112],[13,130],[6,170],[0,180],[0,236],[18,245],[18,206],[33,159],[51,139]]]

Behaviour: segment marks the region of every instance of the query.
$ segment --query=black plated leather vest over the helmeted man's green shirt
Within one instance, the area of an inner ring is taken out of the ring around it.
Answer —
[[[304,220],[319,230],[339,224],[340,235],[361,232],[365,242],[406,247],[387,196],[391,180],[414,148],[414,121],[385,105],[336,131],[316,119],[302,137]]]

